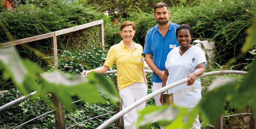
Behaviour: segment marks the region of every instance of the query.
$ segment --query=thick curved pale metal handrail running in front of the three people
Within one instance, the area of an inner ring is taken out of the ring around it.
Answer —
[[[208,72],[208,73],[204,73],[201,76],[198,76],[197,78],[201,78],[201,77],[206,77],[206,76],[212,76],[212,75],[219,75],[219,74],[246,74],[247,72],[245,71],[236,71],[236,70],[223,70],[223,71],[213,71],[213,72]],[[125,109],[123,109],[122,111],[118,112],[117,114],[115,114],[113,117],[111,117],[110,119],[108,119],[107,121],[105,121],[103,124],[101,124],[97,129],[105,129],[106,127],[108,127],[111,123],[113,123],[114,121],[116,121],[119,117],[122,117],[124,114],[126,114],[127,112],[131,111],[132,109],[136,108],[137,106],[141,105],[142,103],[146,102],[147,100],[155,97],[156,95],[165,92],[173,87],[179,86],[185,82],[188,81],[188,78],[176,81],[170,85],[167,85],[155,92],[152,92],[151,94],[148,94],[147,96],[141,98],[140,100],[138,100],[137,102],[133,103],[132,105],[126,107]]]

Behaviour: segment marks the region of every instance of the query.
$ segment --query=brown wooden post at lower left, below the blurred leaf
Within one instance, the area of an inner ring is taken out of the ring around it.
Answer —
[[[54,94],[53,104],[57,108],[57,110],[54,111],[56,129],[66,129],[63,106]]]

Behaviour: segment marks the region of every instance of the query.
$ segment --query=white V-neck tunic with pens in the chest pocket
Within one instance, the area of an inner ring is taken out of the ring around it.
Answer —
[[[192,46],[182,56],[180,55],[179,48],[174,48],[167,55],[165,67],[169,72],[166,85],[184,79],[187,75],[196,70],[196,66],[207,60],[201,48]],[[184,106],[195,100],[202,98],[201,96],[201,82],[196,79],[192,86],[187,86],[187,82],[171,88],[168,92],[173,93],[174,104]],[[193,108],[198,102],[187,105],[186,108]]]

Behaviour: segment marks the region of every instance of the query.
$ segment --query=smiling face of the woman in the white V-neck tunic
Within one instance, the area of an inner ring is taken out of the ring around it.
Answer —
[[[188,29],[181,29],[178,31],[176,38],[181,47],[188,47],[192,36],[190,35],[190,31]]]

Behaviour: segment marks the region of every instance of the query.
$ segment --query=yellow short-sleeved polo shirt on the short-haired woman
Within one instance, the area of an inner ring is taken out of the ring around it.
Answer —
[[[118,90],[124,89],[134,82],[144,83],[141,70],[145,67],[142,56],[143,49],[140,44],[134,42],[133,44],[132,52],[123,44],[123,41],[111,46],[104,63],[105,66],[112,67],[116,62]]]

